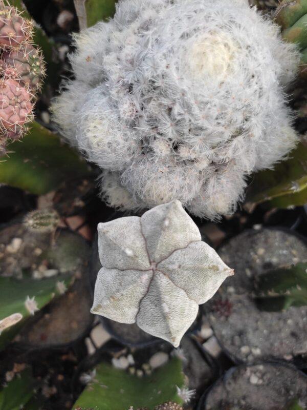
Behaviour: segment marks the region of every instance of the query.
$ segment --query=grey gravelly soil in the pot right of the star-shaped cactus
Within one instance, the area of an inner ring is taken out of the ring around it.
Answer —
[[[204,305],[222,347],[235,360],[292,360],[307,353],[307,306],[261,312],[253,299],[254,280],[270,270],[307,260],[307,247],[291,232],[246,231],[219,251],[235,274]]]

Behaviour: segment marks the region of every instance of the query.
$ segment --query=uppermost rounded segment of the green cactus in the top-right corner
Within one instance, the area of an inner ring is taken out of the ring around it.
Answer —
[[[283,0],[275,11],[275,19],[282,28],[293,26],[307,13],[307,0]]]

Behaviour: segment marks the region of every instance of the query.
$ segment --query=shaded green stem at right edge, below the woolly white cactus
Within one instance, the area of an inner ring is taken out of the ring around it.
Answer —
[[[301,141],[290,158],[274,170],[260,171],[247,191],[246,207],[284,195],[297,194],[307,188],[307,146]]]

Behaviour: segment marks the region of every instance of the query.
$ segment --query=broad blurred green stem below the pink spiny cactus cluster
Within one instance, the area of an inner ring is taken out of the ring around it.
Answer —
[[[9,158],[0,161],[0,182],[42,195],[56,189],[63,180],[91,174],[86,162],[58,135],[37,122],[31,127],[23,140],[9,146],[13,151]]]

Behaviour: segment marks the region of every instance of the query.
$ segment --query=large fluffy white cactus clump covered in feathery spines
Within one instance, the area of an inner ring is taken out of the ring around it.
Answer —
[[[54,117],[112,206],[229,214],[246,176],[296,144],[284,89],[298,52],[246,1],[124,0],[75,39]]]

